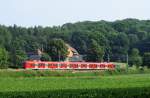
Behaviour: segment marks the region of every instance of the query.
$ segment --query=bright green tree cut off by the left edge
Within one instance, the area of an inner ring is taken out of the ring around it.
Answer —
[[[5,48],[0,48],[0,68],[8,67],[8,52]]]

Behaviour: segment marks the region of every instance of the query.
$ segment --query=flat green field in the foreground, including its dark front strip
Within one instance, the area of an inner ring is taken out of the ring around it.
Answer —
[[[2,98],[148,98],[150,74],[0,77]]]

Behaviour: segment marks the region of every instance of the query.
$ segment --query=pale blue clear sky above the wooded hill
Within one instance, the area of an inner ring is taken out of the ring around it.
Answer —
[[[58,26],[79,21],[150,19],[150,0],[0,0],[0,24]]]

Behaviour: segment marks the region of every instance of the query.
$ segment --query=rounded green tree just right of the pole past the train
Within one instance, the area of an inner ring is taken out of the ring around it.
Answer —
[[[142,57],[139,55],[139,50],[133,48],[129,56],[129,64],[136,65],[137,67],[139,67],[140,65],[142,65],[142,63],[143,61],[142,61]]]

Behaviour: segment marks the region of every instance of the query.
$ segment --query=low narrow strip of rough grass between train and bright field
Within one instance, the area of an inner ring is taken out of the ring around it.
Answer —
[[[143,74],[150,70],[0,70],[0,77],[74,77],[74,76],[104,76],[120,74]]]

